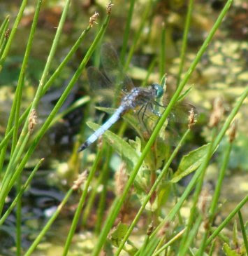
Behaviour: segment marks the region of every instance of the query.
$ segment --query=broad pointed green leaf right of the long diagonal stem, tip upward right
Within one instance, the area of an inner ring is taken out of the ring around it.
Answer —
[[[209,144],[205,144],[183,156],[171,182],[179,182],[182,177],[194,172],[194,170],[200,166],[200,163],[203,162],[204,156],[207,154],[208,146]]]

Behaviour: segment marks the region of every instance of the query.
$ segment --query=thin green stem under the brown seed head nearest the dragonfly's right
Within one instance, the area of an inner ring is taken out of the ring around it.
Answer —
[[[138,220],[140,219],[140,216],[142,215],[143,210],[145,210],[145,206],[149,202],[149,199],[151,198],[152,194],[154,193],[154,191],[158,187],[161,180],[163,180],[163,177],[165,177],[166,174],[168,173],[168,168],[170,167],[170,163],[172,163],[173,159],[175,159],[175,156],[177,155],[179,149],[182,147],[182,144],[184,144],[184,141],[186,140],[187,135],[189,135],[189,132],[190,132],[190,130],[188,129],[184,133],[180,142],[177,144],[177,147],[174,149],[173,153],[170,155],[170,158],[166,162],[166,165],[161,170],[161,173],[159,174],[159,177],[156,178],[156,181],[154,182],[154,184],[152,185],[152,188],[150,189],[149,193],[145,197],[145,200],[143,201],[142,206],[138,210],[138,213],[136,214],[136,217],[133,219],[133,222],[129,226],[129,229],[126,231],[126,234],[125,234],[124,238],[122,239],[122,242],[120,243],[119,248],[115,252],[115,256],[119,255],[119,253],[122,251],[122,248],[124,247],[124,244],[126,243],[127,239],[129,238],[129,236],[131,234],[131,231],[133,231],[133,228],[136,226]]]

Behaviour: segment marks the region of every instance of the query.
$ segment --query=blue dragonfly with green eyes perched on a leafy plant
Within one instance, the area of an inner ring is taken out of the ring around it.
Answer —
[[[114,102],[114,105],[117,102],[120,104],[108,121],[105,121],[99,129],[90,135],[78,151],[82,151],[94,143],[126,112],[133,110],[140,123],[148,130],[145,119],[152,119],[152,116],[160,117],[161,113],[156,108],[163,107],[164,109],[166,107],[159,102],[164,95],[163,87],[159,83],[152,83],[147,87],[135,87],[129,76],[124,73],[115,48],[110,43],[103,43],[101,46],[101,62],[104,74],[95,67],[87,69],[91,89],[94,90],[94,94],[99,96],[99,102],[102,102],[103,106],[106,103],[110,105],[110,102]],[[118,100],[119,98],[120,100]],[[189,108],[184,108],[184,111],[187,109]],[[175,114],[173,116],[175,117]]]

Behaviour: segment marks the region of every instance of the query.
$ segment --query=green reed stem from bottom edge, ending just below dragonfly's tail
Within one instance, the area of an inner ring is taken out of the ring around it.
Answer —
[[[101,160],[102,154],[103,154],[102,147],[99,147],[98,151],[96,153],[96,159],[93,163],[92,169],[89,172],[89,176],[87,177],[87,181],[85,182],[84,191],[82,191],[82,196],[80,197],[80,201],[78,203],[78,208],[77,208],[77,210],[75,212],[75,215],[73,217],[73,222],[71,224],[71,229],[70,229],[70,231],[68,233],[68,236],[66,238],[66,244],[64,245],[63,256],[66,256],[67,253],[68,253],[69,247],[71,245],[71,241],[73,239],[73,235],[75,233],[75,229],[76,229],[77,224],[78,224],[78,220],[80,218],[80,214],[81,214],[81,211],[82,211],[82,206],[84,206],[84,204],[85,204],[85,199],[86,199],[86,196],[87,196],[87,193],[88,193],[89,184],[90,184],[90,182],[92,182],[92,179],[93,179],[94,174],[96,172],[96,167],[98,166],[99,161]]]

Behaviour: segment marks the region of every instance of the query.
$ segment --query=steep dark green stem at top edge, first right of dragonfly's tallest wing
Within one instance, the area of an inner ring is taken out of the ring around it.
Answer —
[[[134,9],[135,2],[136,2],[136,0],[130,1],[129,13],[127,15],[126,27],[125,27],[123,41],[122,41],[122,51],[121,51],[121,55],[120,55],[120,61],[121,61],[122,65],[124,65],[124,62],[125,62],[125,55],[126,55],[127,44],[129,41],[129,33],[130,33],[130,28],[131,28],[131,21],[132,21],[132,17],[133,17],[133,9]]]

